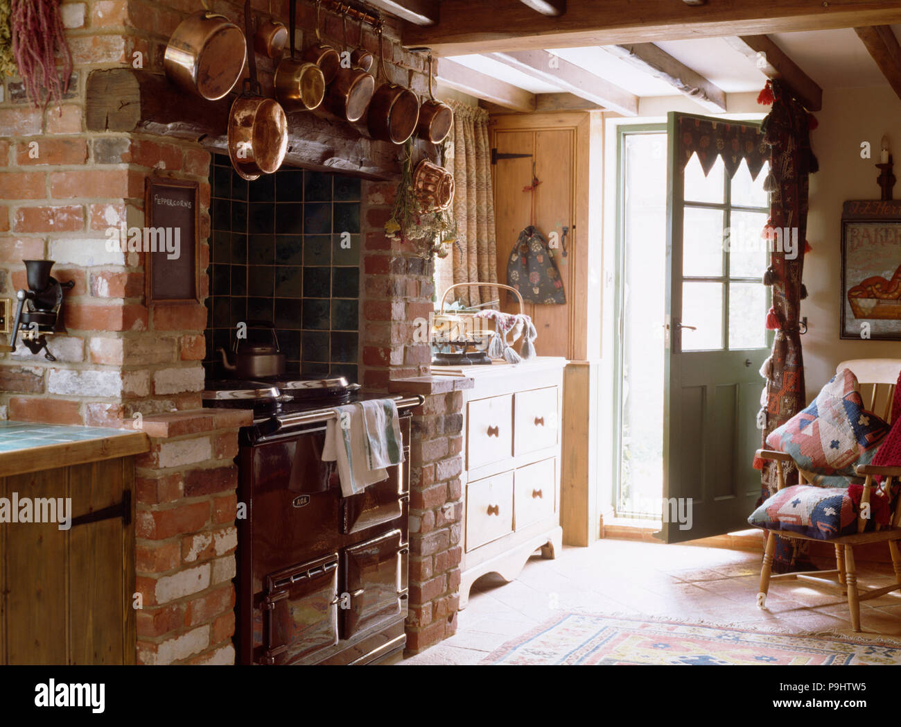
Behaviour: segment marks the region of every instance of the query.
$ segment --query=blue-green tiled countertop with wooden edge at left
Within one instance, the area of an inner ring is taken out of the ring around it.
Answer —
[[[146,452],[147,435],[132,429],[0,421],[0,476]]]

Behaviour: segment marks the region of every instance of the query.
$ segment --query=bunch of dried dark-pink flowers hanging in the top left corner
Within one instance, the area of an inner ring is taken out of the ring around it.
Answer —
[[[34,106],[62,100],[72,75],[72,53],[59,15],[59,0],[10,0],[13,58]],[[57,69],[57,55],[62,69]]]

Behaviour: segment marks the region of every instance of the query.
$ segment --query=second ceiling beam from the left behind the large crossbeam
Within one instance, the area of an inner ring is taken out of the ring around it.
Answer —
[[[624,116],[638,115],[637,96],[548,51],[492,53],[489,58]]]

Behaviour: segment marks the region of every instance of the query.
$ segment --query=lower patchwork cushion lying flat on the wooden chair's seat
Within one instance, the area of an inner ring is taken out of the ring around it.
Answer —
[[[857,532],[857,511],[846,488],[796,484],[770,497],[748,522],[829,540]]]

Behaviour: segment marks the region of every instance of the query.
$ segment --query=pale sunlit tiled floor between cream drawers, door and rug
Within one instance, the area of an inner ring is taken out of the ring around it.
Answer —
[[[864,586],[893,582],[891,566],[863,563],[858,568]],[[556,560],[533,556],[509,584],[496,575],[483,576],[460,612],[457,633],[401,663],[476,664],[505,641],[551,619],[555,609],[853,633],[841,596],[796,581],[772,584],[769,609],[761,611],[759,578],[760,553],[750,551],[612,539],[591,548],[563,548]],[[860,619],[864,635],[901,635],[901,594],[861,603]]]

